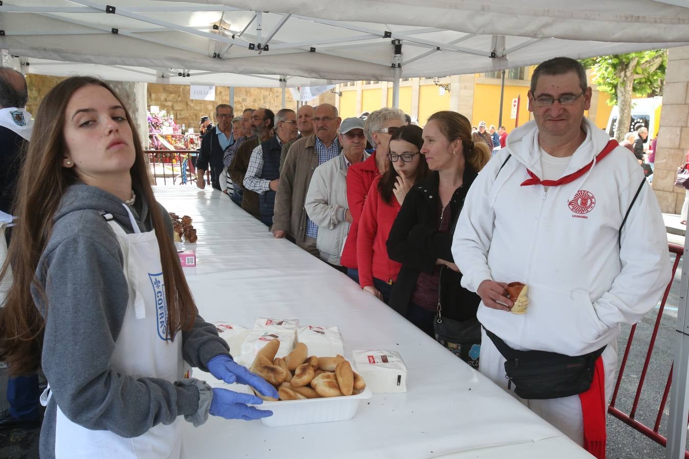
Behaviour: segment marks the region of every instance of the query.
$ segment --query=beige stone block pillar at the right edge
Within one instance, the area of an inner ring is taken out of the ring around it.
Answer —
[[[663,89],[653,189],[666,213],[680,213],[684,189],[677,188],[677,167],[689,150],[689,46],[670,48]]]

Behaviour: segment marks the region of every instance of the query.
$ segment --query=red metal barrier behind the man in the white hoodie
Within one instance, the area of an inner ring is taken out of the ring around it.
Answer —
[[[655,442],[659,443],[660,445],[663,445],[664,447],[667,445],[668,438],[659,433],[659,428],[661,420],[663,418],[663,414],[665,412],[666,403],[668,402],[668,394],[670,393],[670,385],[672,383],[672,367],[674,365],[670,365],[670,372],[668,373],[668,379],[665,384],[665,390],[663,392],[663,396],[661,398],[660,406],[658,407],[657,416],[655,418],[655,423],[653,424],[653,426],[649,427],[648,425],[641,423],[639,420],[635,418],[635,416],[637,414],[637,408],[639,407],[639,398],[641,398],[641,390],[644,388],[644,381],[646,380],[646,373],[648,372],[648,365],[650,363],[651,354],[653,352],[653,347],[655,345],[655,339],[658,334],[660,321],[663,317],[665,303],[666,301],[668,301],[670,287],[672,286],[672,281],[675,279],[675,271],[677,271],[677,266],[679,266],[679,260],[681,259],[681,256],[684,253],[684,248],[681,246],[677,246],[676,244],[668,244],[668,248],[670,250],[670,253],[675,255],[675,259],[672,261],[672,277],[670,278],[670,283],[665,288],[663,299],[661,300],[660,306],[658,308],[658,315],[655,319],[655,326],[653,327],[650,342],[648,343],[648,351],[646,352],[646,359],[644,360],[643,370],[641,370],[641,376],[639,376],[639,383],[637,385],[637,390],[634,397],[634,402],[632,404],[632,408],[630,409],[630,412],[627,414],[626,412],[623,412],[617,407],[615,407],[615,403],[617,402],[619,386],[624,376],[624,370],[627,364],[629,351],[632,347],[632,341],[634,340],[634,332],[637,329],[637,325],[633,325],[629,332],[627,347],[624,350],[624,356],[622,357],[622,363],[619,367],[619,374],[617,375],[617,381],[615,383],[615,391],[613,392],[613,398],[610,401],[610,405],[608,406],[609,414],[612,414],[613,416],[615,416],[615,418],[618,418],[623,423],[626,423],[633,429],[636,429],[637,431],[641,432],[641,434],[644,434],[651,440],[654,440]],[[684,458],[689,459],[689,451],[684,451]]]

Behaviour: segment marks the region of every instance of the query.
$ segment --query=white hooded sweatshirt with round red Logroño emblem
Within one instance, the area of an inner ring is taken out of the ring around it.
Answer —
[[[592,162],[610,140],[586,118],[582,128],[586,140],[563,177]],[[615,341],[620,323],[636,323],[654,308],[670,281],[655,194],[644,182],[619,248],[618,230],[644,181],[627,149],[616,147],[573,182],[547,190],[522,186],[527,168],[543,177],[535,121],[510,133],[466,196],[452,244],[462,286],[475,292],[486,279],[528,286],[526,314],[483,303],[477,312],[512,348],[570,356],[597,350]]]

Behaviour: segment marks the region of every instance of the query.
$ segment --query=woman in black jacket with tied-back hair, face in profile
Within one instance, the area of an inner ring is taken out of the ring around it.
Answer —
[[[466,192],[491,151],[471,141],[471,124],[464,116],[438,111],[423,129],[421,153],[431,173],[407,193],[387,241],[390,258],[402,264],[389,304],[434,337],[439,290],[444,317],[476,317],[480,298],[460,286],[462,273],[451,245]]]

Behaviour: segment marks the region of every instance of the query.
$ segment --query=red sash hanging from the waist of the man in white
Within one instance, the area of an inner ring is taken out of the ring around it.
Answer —
[[[605,459],[605,415],[607,409],[605,397],[605,373],[603,358],[598,357],[593,381],[586,392],[579,394],[584,418],[584,449],[597,459]]]

